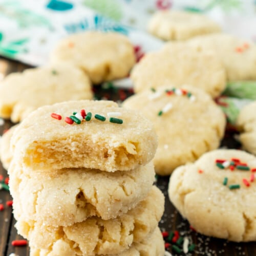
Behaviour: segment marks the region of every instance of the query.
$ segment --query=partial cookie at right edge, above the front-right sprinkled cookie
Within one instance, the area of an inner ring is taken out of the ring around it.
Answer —
[[[256,155],[256,101],[244,106],[237,120],[239,139],[248,152]]]

